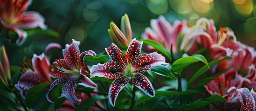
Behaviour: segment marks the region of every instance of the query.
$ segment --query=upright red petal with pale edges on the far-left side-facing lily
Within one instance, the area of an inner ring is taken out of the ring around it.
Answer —
[[[50,73],[50,62],[47,58],[47,56],[42,53],[41,55],[37,56],[36,54],[33,55],[32,58],[32,65],[35,68],[35,72],[38,74],[41,74],[43,77],[45,77],[48,81],[52,81],[49,77]]]

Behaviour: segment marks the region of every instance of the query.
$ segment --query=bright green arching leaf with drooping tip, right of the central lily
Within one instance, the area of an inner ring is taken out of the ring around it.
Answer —
[[[208,62],[204,58],[204,56],[193,55],[193,56],[182,57],[182,58],[176,60],[175,62],[173,62],[172,71],[177,74],[180,74],[185,67],[187,67],[188,65],[190,65],[194,62],[199,62],[199,61],[203,62],[207,66],[207,68],[210,69],[208,66]]]

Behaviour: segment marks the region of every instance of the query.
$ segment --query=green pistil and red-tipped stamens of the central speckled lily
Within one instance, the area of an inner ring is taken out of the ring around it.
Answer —
[[[131,67],[132,67],[131,62],[134,60],[134,56],[131,55],[131,57],[130,57],[129,54],[126,54],[125,55],[126,60],[124,60],[124,58],[121,57],[121,54],[118,51],[117,58],[118,58],[120,64],[122,64],[123,67],[125,68],[125,74],[127,74],[128,76],[131,77],[133,75],[133,72],[134,72],[134,70],[133,71],[131,70]],[[126,64],[125,64],[125,62],[126,62]]]

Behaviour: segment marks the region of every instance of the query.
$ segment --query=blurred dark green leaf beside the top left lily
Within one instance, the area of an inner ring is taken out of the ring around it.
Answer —
[[[48,28],[47,30],[41,30],[39,28],[28,30],[28,37],[29,36],[34,36],[35,34],[43,34],[43,35],[48,35],[52,37],[60,37],[59,33],[53,29]]]

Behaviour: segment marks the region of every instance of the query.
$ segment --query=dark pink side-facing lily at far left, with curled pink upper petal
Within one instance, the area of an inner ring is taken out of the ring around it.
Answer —
[[[25,99],[25,96],[30,88],[43,82],[52,82],[49,76],[49,73],[51,72],[50,62],[46,54],[49,50],[55,48],[61,49],[61,45],[58,43],[49,43],[41,55],[37,56],[34,54],[32,64],[29,60],[27,60],[27,63],[23,62],[21,72],[24,74],[21,75],[18,83],[14,85],[20,91],[23,99]]]

